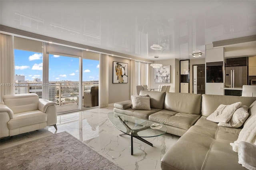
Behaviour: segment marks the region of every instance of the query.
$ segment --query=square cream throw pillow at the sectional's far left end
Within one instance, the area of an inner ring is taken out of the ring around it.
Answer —
[[[132,109],[134,110],[151,110],[150,109],[150,97],[131,96]]]

